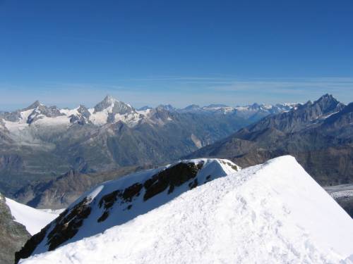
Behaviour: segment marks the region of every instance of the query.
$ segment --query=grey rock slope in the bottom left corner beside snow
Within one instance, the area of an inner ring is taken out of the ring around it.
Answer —
[[[5,197],[0,194],[0,263],[13,264],[16,251],[19,251],[29,238],[30,233],[24,225],[13,220]]]

